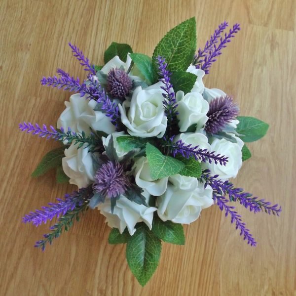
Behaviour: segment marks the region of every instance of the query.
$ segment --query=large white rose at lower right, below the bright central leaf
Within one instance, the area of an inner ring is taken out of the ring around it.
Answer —
[[[204,188],[201,182],[192,191],[169,185],[166,192],[157,197],[158,216],[174,223],[190,224],[199,217],[202,209],[212,205],[213,189],[209,185]]]

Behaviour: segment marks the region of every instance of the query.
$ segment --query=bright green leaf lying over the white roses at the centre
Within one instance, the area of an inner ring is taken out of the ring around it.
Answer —
[[[175,175],[185,167],[181,161],[171,156],[163,155],[150,143],[146,144],[146,156],[152,180]]]

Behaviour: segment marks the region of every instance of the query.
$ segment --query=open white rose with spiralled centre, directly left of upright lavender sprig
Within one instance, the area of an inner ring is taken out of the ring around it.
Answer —
[[[142,89],[138,86],[131,101],[119,104],[122,123],[133,136],[161,138],[167,127],[161,88]],[[129,108],[129,109],[128,109]]]

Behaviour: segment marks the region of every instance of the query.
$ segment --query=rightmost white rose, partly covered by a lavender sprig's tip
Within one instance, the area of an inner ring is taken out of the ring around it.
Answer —
[[[235,136],[234,136],[235,137]],[[235,137],[237,143],[231,143],[226,139],[215,138],[211,144],[212,151],[215,151],[215,155],[221,154],[228,157],[226,166],[222,166],[219,163],[216,165],[215,162],[211,164],[206,162],[204,167],[211,170],[212,175],[219,175],[220,179],[235,178],[239,169],[242,166],[242,147],[244,142]]]

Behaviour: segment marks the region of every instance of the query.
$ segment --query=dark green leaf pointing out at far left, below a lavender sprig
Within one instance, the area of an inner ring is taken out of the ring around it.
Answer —
[[[62,165],[62,158],[65,148],[60,147],[49,151],[40,161],[37,168],[33,171],[32,177],[39,177],[45,174],[48,170],[57,168]]]

